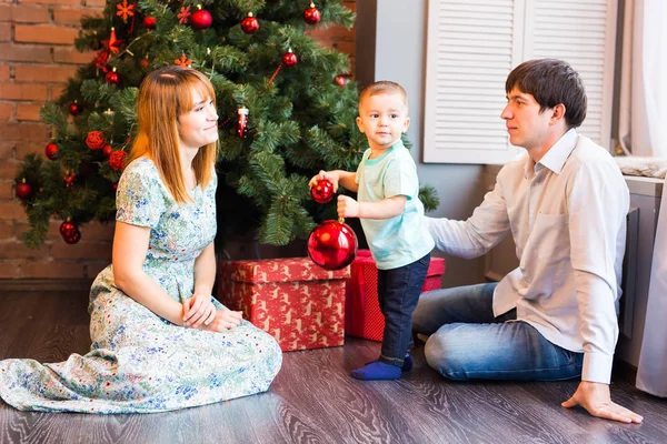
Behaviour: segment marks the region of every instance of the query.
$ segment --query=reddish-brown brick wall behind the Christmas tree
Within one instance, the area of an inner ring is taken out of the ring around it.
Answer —
[[[39,109],[56,100],[67,79],[93,53],[79,53],[73,40],[82,16],[101,14],[104,0],[0,0],[0,279],[92,279],[111,261],[113,225],[80,228],[81,241],[68,245],[51,221],[46,243],[30,250],[21,242],[28,229],[13,194],[13,179],[27,153],[43,155],[48,128]],[[356,1],[345,1],[355,10]],[[355,31],[310,32],[323,46],[352,56]]]

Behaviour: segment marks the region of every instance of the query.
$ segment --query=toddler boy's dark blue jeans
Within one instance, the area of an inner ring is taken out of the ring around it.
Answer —
[[[401,366],[412,346],[412,311],[424,287],[430,254],[392,270],[378,270],[378,297],[385,315],[380,361]]]

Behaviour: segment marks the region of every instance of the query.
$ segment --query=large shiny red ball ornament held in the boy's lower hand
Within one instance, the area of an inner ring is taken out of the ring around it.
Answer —
[[[347,224],[325,221],[308,238],[308,255],[326,270],[345,269],[357,254],[357,235]]]

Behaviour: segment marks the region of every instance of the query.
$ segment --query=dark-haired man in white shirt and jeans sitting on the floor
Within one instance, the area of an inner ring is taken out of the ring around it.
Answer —
[[[639,423],[611,402],[617,306],[629,193],[601,147],[577,134],[586,117],[578,73],[531,60],[507,78],[509,141],[526,152],[498,173],[467,221],[428,219],[436,248],[477,258],[511,233],[519,266],[498,284],[421,296],[414,329],[430,366],[452,380],[581,377],[561,405]]]

